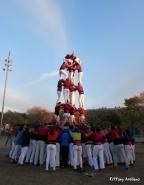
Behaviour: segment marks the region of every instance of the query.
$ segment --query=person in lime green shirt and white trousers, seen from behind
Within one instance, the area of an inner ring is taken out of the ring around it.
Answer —
[[[72,140],[74,142],[73,145],[73,167],[74,170],[77,170],[78,164],[80,166],[80,170],[83,168],[83,160],[82,160],[82,145],[81,145],[81,133],[79,129],[76,127],[72,132],[70,132]]]

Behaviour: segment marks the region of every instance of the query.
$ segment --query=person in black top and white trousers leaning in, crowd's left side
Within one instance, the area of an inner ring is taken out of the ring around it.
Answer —
[[[21,154],[20,154],[19,159],[18,159],[18,164],[19,165],[24,164],[24,159],[25,159],[27,151],[28,151],[29,142],[30,142],[29,130],[26,126],[24,126],[23,138],[22,138],[22,144],[21,144],[22,149],[21,149]]]

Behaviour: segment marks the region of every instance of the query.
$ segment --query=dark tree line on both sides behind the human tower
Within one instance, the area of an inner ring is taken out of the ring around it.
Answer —
[[[125,107],[86,110],[86,120],[98,127],[110,127],[117,124],[124,129],[139,127],[144,130],[144,93],[125,99],[124,105]],[[52,118],[52,112],[42,107],[33,107],[26,113],[7,111],[4,114],[4,123],[37,125],[50,123]]]

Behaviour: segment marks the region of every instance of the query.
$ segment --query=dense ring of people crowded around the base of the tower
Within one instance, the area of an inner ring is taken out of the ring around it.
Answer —
[[[103,170],[123,163],[128,169],[135,161],[134,138],[130,131],[93,128],[89,125],[59,127],[56,124],[19,129],[9,152],[12,163],[45,165],[45,170],[71,167]]]

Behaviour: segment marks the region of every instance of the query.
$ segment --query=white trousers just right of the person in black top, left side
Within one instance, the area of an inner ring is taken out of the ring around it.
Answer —
[[[28,162],[33,163],[35,150],[36,150],[36,143],[37,143],[36,140],[30,139],[30,144],[29,144],[29,148],[28,148],[28,152],[27,152],[26,160],[25,160],[26,163]]]

